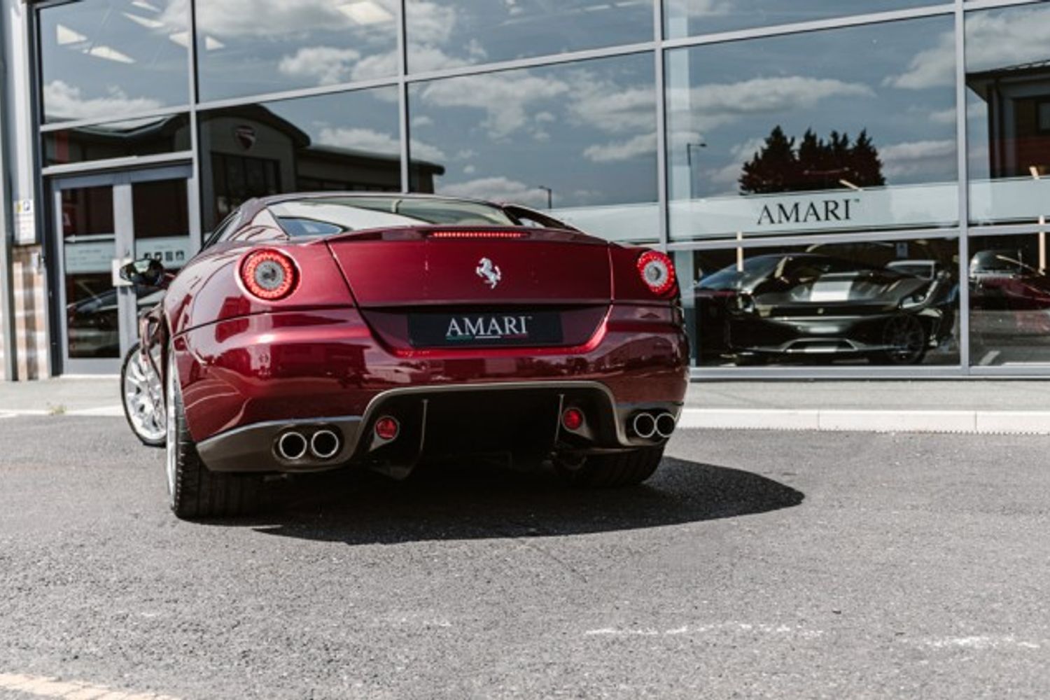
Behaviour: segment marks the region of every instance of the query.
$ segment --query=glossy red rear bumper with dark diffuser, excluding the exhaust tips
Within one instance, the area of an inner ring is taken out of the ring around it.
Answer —
[[[688,343],[680,323],[648,316],[610,313],[579,347],[406,356],[376,340],[356,311],[336,309],[223,321],[176,336],[173,347],[205,464],[216,471],[302,471],[442,451],[654,444],[632,438],[627,422],[638,410],[677,419]],[[560,431],[560,410],[570,404],[584,410],[587,434]],[[385,415],[398,417],[404,432],[374,445],[374,422]],[[340,438],[329,459],[290,461],[274,448],[286,431],[309,439],[320,429]]]

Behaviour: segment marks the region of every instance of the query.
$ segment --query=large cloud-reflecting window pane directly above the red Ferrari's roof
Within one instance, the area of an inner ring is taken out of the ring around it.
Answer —
[[[651,54],[414,84],[413,189],[655,240],[653,85]]]

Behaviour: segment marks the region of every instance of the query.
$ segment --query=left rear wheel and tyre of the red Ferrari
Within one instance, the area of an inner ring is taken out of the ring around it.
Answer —
[[[168,504],[183,519],[250,515],[264,506],[262,479],[253,474],[211,471],[201,461],[190,437],[176,378],[174,351],[168,349],[167,370]]]

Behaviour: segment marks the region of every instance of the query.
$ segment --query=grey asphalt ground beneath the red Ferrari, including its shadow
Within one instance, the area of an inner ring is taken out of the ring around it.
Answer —
[[[0,697],[1046,698],[1047,438],[684,430],[185,523],[123,419],[0,419]]]

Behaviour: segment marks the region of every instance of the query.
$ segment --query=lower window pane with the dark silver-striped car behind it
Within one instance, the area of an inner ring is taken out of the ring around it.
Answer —
[[[958,364],[959,240],[675,254],[701,366]]]

